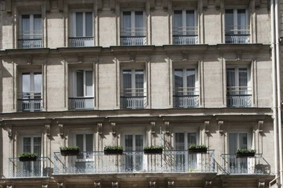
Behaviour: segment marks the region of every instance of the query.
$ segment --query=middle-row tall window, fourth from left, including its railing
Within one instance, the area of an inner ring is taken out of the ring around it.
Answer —
[[[199,92],[197,87],[197,72],[195,68],[174,69],[174,107],[197,107]]]

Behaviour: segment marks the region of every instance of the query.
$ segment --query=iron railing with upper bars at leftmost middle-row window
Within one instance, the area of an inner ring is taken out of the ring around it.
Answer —
[[[18,111],[34,112],[42,110],[42,91],[26,91],[18,94]]]

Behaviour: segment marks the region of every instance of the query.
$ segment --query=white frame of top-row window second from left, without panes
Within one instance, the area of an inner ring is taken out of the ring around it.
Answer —
[[[86,12],[91,12],[92,13],[92,36],[86,36]],[[92,9],[77,9],[77,10],[72,10],[69,14],[70,17],[70,32],[69,32],[69,37],[77,37],[77,31],[76,31],[76,13],[83,13],[83,36],[80,37],[94,37],[93,36],[93,31],[94,31],[94,13]],[[78,37],[78,38],[80,38]]]

